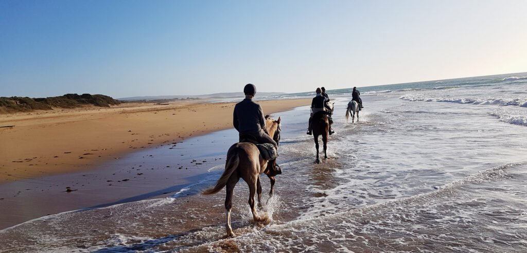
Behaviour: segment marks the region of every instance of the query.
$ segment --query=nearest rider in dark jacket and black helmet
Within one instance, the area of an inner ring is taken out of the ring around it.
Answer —
[[[240,142],[243,136],[250,136],[258,143],[270,143],[276,147],[278,144],[267,133],[264,111],[259,104],[252,101],[256,94],[256,86],[247,84],[243,88],[245,99],[236,104],[232,124],[240,133]]]

